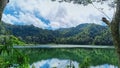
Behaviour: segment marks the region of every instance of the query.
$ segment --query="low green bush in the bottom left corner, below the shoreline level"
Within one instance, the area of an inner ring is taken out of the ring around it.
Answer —
[[[1,68],[8,67],[29,68],[28,57],[17,50],[11,50],[11,52],[9,53],[2,52],[2,54],[0,55],[0,60]]]

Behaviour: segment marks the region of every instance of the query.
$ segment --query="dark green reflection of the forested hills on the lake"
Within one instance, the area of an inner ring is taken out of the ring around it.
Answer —
[[[26,49],[25,49],[26,50]],[[27,53],[27,52],[29,53]],[[114,49],[27,49],[24,53],[29,55],[30,63],[49,58],[71,59],[80,66],[111,64],[117,65]],[[68,62],[70,65],[70,62]]]

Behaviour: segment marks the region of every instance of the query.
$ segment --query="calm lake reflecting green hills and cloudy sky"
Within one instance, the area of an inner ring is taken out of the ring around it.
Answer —
[[[40,48],[39,48],[40,47]],[[114,48],[94,48],[92,47],[86,47],[84,48],[82,46],[80,47],[67,47],[64,48],[63,46],[61,48],[55,47],[52,48],[52,46],[49,46],[49,48],[46,46],[38,46],[36,48],[32,47],[18,47],[18,50],[20,52],[26,54],[30,61],[30,65],[35,66],[35,68],[42,66],[41,68],[45,68],[48,66],[59,66],[65,63],[72,61],[75,68],[79,68],[79,66],[89,66],[90,68],[115,68],[117,66],[117,55],[115,53]],[[66,47],[66,46],[65,46]],[[16,47],[17,48],[17,47]],[[56,63],[54,63],[56,62]],[[58,63],[57,63],[58,62]],[[51,65],[52,63],[52,65]],[[63,66],[66,66],[65,64]],[[67,65],[69,66],[69,64]],[[83,68],[81,67],[81,68]],[[64,67],[63,67],[64,68]]]

